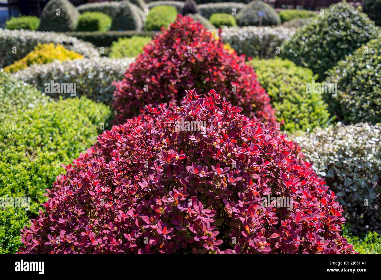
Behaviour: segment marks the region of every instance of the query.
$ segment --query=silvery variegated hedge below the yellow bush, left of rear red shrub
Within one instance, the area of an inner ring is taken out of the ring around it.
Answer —
[[[76,59],[65,62],[33,65],[14,74],[29,84],[36,84],[44,92],[45,83],[75,83],[76,96],[85,96],[96,102],[109,104],[115,90],[113,81],[119,81],[132,58],[111,59],[94,57],[93,59]],[[47,92],[47,95],[58,99],[67,98],[70,94]]]

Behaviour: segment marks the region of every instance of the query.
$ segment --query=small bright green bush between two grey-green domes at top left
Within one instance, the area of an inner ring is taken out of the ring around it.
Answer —
[[[100,12],[86,12],[79,16],[76,31],[108,31],[112,19]]]

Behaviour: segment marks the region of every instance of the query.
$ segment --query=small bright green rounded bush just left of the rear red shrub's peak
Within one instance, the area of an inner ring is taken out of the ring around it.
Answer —
[[[177,16],[177,10],[173,6],[162,5],[149,10],[144,30],[160,30],[162,26],[168,27]]]

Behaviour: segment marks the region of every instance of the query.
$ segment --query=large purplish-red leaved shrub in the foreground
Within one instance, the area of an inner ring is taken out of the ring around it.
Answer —
[[[22,252],[354,253],[343,208],[299,148],[240,111],[189,91],[181,107],[149,105],[103,132],[22,230]]]

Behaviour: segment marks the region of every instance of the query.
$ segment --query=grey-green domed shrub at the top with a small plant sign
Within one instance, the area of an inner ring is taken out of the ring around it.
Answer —
[[[269,4],[254,0],[237,14],[237,24],[239,26],[279,25],[280,18]]]

